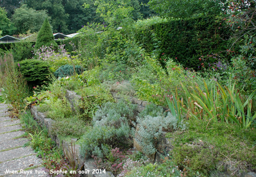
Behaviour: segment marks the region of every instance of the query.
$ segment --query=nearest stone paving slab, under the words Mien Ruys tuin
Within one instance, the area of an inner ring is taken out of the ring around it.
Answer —
[[[22,157],[20,159],[6,161],[3,163],[0,163],[0,176],[7,175],[5,173],[6,169],[19,171],[20,169],[26,169],[26,168],[33,167],[33,166],[38,166],[40,164],[41,164],[40,159],[38,157],[36,157],[36,155],[30,155],[27,157]],[[15,175],[15,174],[13,174],[13,175]],[[26,177],[26,175],[24,175],[24,174],[22,174],[22,175],[23,175],[22,177]]]

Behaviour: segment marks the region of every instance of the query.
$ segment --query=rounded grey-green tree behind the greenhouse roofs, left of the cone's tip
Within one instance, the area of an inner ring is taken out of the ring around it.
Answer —
[[[48,17],[46,10],[34,10],[22,5],[20,8],[14,10],[12,22],[16,27],[16,33],[26,33],[30,30],[32,33],[38,32],[42,26],[44,19]]]

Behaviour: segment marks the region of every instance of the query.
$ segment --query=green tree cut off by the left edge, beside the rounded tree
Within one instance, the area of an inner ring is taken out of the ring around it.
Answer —
[[[12,30],[13,27],[7,18],[6,10],[0,7],[0,35],[10,35]]]

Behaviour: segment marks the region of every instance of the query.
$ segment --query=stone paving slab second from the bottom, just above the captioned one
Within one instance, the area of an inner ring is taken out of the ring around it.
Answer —
[[[34,154],[34,151],[29,147],[21,147],[9,151],[2,151],[0,152],[0,162],[20,158],[31,154]]]

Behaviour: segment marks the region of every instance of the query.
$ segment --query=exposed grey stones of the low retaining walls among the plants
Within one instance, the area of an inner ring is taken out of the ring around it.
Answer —
[[[116,102],[118,102],[118,100],[122,99],[122,96],[120,96],[119,94],[117,94],[115,92],[112,92],[112,96],[116,100]],[[74,91],[67,90],[66,98],[70,102],[70,106],[72,107],[72,109],[76,110],[76,108],[79,107],[78,102],[79,102],[79,100],[82,99],[82,96],[78,95]],[[147,101],[138,100],[137,98],[134,98],[134,97],[129,97],[129,100],[133,104],[137,104],[137,106],[138,106],[137,107],[137,113],[144,110],[145,106],[147,104],[149,104]],[[167,110],[167,108],[164,108],[164,110]],[[46,118],[46,116],[42,112],[39,112],[37,110],[37,106],[33,106],[31,108],[31,112],[32,112],[33,116],[36,118],[36,120],[38,122],[40,122],[42,125],[46,126],[46,128],[48,128],[48,130],[51,129],[51,124],[54,122],[54,120],[52,120],[50,118]],[[172,138],[166,138],[165,134],[166,134],[166,132],[164,132],[162,134],[162,138],[160,139],[160,141],[157,145],[157,148],[156,148],[157,149],[156,153],[149,156],[149,158],[152,161],[158,161],[158,162],[161,163],[163,157],[165,155],[167,155],[170,151],[172,151],[173,139]],[[135,134],[135,136],[136,136],[136,134]],[[69,151],[70,143],[68,143],[66,141],[60,142],[60,140],[56,136],[51,135],[51,138],[52,138],[52,140],[54,140],[56,142],[58,147],[60,147],[60,144],[62,144],[62,147],[66,151]],[[76,142],[76,139],[73,139],[73,141]],[[138,145],[138,143],[136,142],[135,139],[134,139],[134,148],[136,148],[138,151],[141,151],[141,147]],[[79,153],[80,146],[76,145],[75,149],[76,149],[77,154],[80,154]],[[97,169],[94,166],[93,160],[84,159],[84,157],[81,157],[80,155],[78,155],[76,161],[78,161],[78,164],[80,165],[80,167],[83,167],[83,170],[88,169],[88,170],[92,171],[92,169]],[[228,172],[228,169],[224,170],[224,172],[212,171],[211,174],[212,174],[211,175],[212,177],[232,177],[233,176],[231,173]],[[84,175],[84,177],[114,177],[114,175],[111,172],[106,172],[105,174],[89,173],[89,174]],[[256,177],[256,173],[254,173],[254,172],[248,172],[248,173],[247,172],[242,172],[239,177]]]

